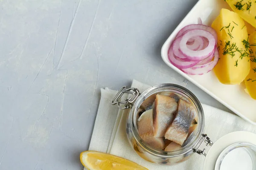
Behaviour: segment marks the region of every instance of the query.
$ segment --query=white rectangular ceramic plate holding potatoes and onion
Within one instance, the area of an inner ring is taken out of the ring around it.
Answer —
[[[178,31],[189,24],[197,24],[198,17],[201,17],[203,24],[210,26],[218,16],[221,8],[231,8],[224,0],[199,0],[192,8],[170,37],[164,43],[161,56],[163,61],[183,77],[197,85],[206,93],[221,102],[227,108],[235,112],[241,118],[256,125],[256,100],[252,99],[245,91],[245,85],[224,85],[221,84],[213,71],[204,75],[187,75],[169,62],[168,50]],[[248,28],[248,26],[247,26]],[[252,28],[252,27],[251,27]],[[248,29],[251,29],[250,26]]]

